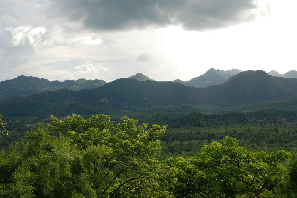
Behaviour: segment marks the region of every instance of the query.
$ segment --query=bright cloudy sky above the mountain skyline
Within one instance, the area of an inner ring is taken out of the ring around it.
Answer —
[[[1,0],[0,81],[297,70],[296,0]]]

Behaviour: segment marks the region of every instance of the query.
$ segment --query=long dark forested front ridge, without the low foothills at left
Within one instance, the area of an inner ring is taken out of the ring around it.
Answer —
[[[121,78],[91,90],[45,91],[28,96],[40,102],[81,102],[100,107],[181,105],[181,104],[245,104],[264,100],[288,101],[297,98],[297,79],[280,78],[264,71],[245,71],[223,84],[194,88],[173,82],[140,82]]]

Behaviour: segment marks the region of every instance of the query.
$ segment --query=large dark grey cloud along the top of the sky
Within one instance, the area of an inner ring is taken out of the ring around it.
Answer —
[[[252,0],[53,0],[50,12],[97,30],[182,25],[200,31],[252,20],[255,8]]]

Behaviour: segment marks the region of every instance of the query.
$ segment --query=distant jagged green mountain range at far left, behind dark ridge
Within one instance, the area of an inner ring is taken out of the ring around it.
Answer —
[[[27,96],[35,94],[41,91],[47,90],[59,90],[59,89],[70,89],[80,90],[83,88],[90,89],[96,88],[106,84],[102,80],[66,80],[60,81],[49,81],[44,78],[37,78],[32,76],[19,76],[12,80],[6,80],[0,82],[0,98],[9,96]]]

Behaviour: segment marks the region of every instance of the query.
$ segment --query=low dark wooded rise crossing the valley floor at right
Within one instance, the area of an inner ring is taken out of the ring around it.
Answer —
[[[161,118],[161,119],[159,119]],[[203,114],[201,112],[190,112],[178,117],[154,114],[146,120],[148,123],[164,124],[169,128],[201,127],[214,125],[234,125],[242,123],[285,123],[297,122],[297,113],[275,109],[259,110],[253,112],[230,112],[224,114]]]

